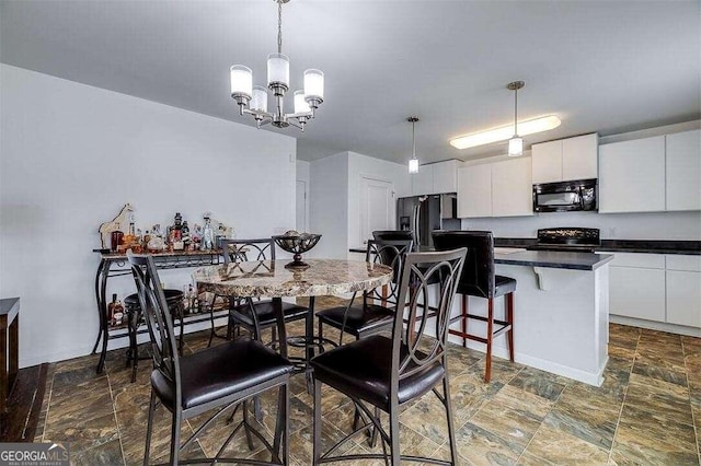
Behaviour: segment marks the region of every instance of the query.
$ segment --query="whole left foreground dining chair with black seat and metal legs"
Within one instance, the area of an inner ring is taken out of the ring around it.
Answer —
[[[183,463],[287,465],[288,384],[292,369],[289,361],[255,340],[229,341],[189,356],[179,356],[172,318],[153,258],[136,256],[130,251],[127,252],[127,256],[143,310],[153,357],[143,464],[149,463],[153,413],[160,404],[172,413],[169,459],[171,465],[177,465],[180,453],[231,407],[234,407],[233,412],[242,407],[243,419],[232,428],[231,434],[225,440],[216,457],[188,458]],[[273,388],[279,388],[279,394],[275,433],[271,445],[269,441],[249,422],[248,400]],[[181,445],[182,422],[209,410],[215,411],[212,416]],[[271,462],[221,457],[227,445],[241,429],[251,450],[252,435],[266,446],[271,453]]]

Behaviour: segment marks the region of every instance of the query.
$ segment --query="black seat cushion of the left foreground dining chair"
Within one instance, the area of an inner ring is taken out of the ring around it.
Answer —
[[[292,370],[289,361],[255,340],[228,341],[180,358],[182,407],[188,409],[254,387]],[[175,385],[158,369],[151,386],[173,409]]]

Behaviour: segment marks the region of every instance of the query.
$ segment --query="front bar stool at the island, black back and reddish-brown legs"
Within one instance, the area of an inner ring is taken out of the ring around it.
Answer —
[[[450,328],[450,335],[462,338],[462,346],[467,347],[467,340],[475,340],[486,343],[486,361],[484,382],[490,382],[492,376],[492,342],[494,338],[506,333],[509,360],[514,362],[514,292],[516,280],[509,277],[495,275],[494,270],[494,236],[487,231],[446,231],[434,232],[434,245],[437,251],[467,247],[466,258],[457,293],[462,294],[461,313],[450,319],[450,323],[460,322],[460,330]],[[468,296],[479,296],[487,300],[487,315],[470,314]],[[504,296],[505,321],[494,318],[494,299]],[[468,334],[468,319],[476,319],[486,323],[486,337]]]

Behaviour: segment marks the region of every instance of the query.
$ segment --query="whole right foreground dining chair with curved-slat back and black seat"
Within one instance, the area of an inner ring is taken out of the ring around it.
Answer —
[[[399,280],[399,304],[394,313],[391,337],[372,335],[334,348],[311,360],[314,370],[313,464],[337,461],[384,459],[392,466],[414,461],[455,465],[457,458],[446,345],[450,307],[458,278],[462,271],[466,249],[443,253],[407,254]],[[429,279],[436,278],[434,286]],[[412,284],[413,291],[410,291]],[[430,287],[430,289],[429,289]],[[437,287],[437,290],[434,288]],[[420,305],[436,295],[435,318],[421,318],[427,306]],[[403,314],[409,313],[409,325]],[[415,323],[416,325],[413,325]],[[429,327],[430,325],[430,327]],[[436,338],[426,335],[433,330]],[[325,453],[321,451],[321,388],[326,384],[350,397],[363,411],[364,424],[342,439]],[[436,389],[443,385],[443,393]],[[406,403],[433,391],[446,410],[450,461],[402,455],[400,452],[399,410]],[[374,412],[379,408],[389,416],[389,432]],[[377,430],[382,443],[378,454],[331,456],[341,444],[360,432]],[[389,453],[387,452],[389,446]]]

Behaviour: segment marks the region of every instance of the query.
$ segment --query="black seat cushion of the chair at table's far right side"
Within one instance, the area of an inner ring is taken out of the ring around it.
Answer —
[[[324,324],[341,329],[346,307],[330,307],[317,313],[317,317]],[[391,328],[394,323],[394,311],[377,304],[352,306],[346,315],[344,331],[353,335],[376,333]]]

